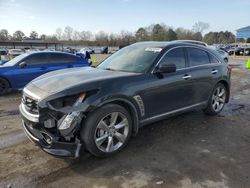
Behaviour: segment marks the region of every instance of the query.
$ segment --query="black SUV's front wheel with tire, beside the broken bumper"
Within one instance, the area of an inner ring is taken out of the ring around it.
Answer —
[[[109,157],[122,150],[131,134],[131,116],[116,104],[107,104],[90,113],[81,130],[86,149],[97,157]]]

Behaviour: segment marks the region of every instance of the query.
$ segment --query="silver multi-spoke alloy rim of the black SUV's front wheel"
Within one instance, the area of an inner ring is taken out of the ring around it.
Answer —
[[[129,133],[127,117],[120,112],[112,112],[99,121],[95,131],[95,144],[103,152],[119,149]]]

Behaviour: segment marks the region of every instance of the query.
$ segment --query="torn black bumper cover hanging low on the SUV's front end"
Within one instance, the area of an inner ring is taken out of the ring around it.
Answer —
[[[80,141],[75,143],[57,141],[55,137],[46,130],[36,128],[38,123],[27,119],[21,106],[19,110],[23,119],[22,124],[25,134],[43,151],[57,157],[79,157],[81,149]]]

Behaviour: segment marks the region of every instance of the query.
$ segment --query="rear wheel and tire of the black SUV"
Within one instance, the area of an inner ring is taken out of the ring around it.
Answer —
[[[208,106],[204,112],[208,115],[217,115],[225,106],[228,92],[222,83],[218,83],[209,98]]]

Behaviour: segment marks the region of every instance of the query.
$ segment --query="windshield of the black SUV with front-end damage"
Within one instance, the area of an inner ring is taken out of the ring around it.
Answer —
[[[162,48],[131,45],[104,60],[97,68],[105,70],[145,73],[153,64]]]

